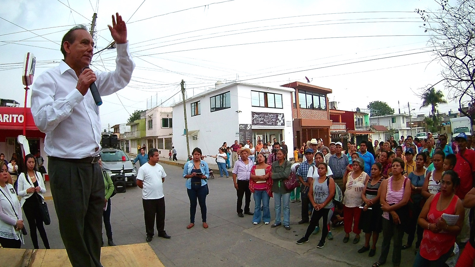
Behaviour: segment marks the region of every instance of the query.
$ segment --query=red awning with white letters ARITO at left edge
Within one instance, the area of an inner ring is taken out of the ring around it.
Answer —
[[[0,107],[0,129],[6,130],[23,130],[23,124],[26,122],[27,130],[39,130],[31,109],[27,108],[26,117],[24,116],[24,108]]]

